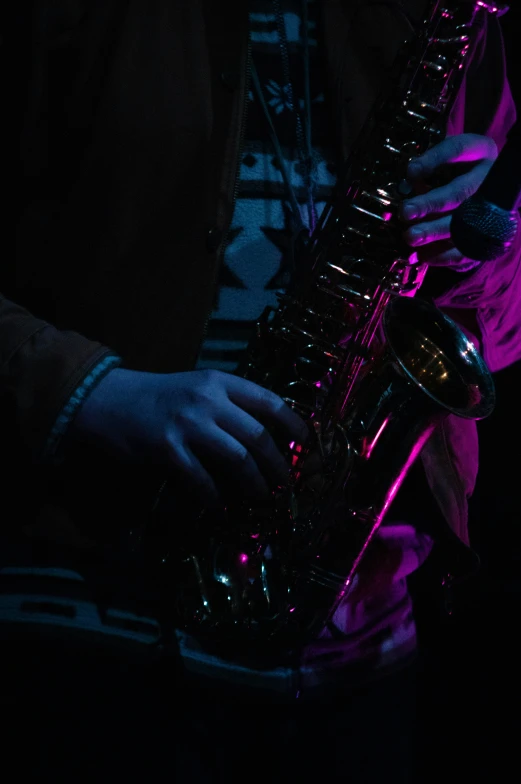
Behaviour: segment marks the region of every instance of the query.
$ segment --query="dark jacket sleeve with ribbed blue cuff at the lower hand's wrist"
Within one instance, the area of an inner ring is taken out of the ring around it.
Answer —
[[[117,364],[109,348],[60,331],[0,294],[4,455],[52,460],[85,394]]]

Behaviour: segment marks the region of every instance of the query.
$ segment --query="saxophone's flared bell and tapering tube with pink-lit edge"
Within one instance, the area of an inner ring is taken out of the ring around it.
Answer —
[[[495,405],[484,360],[434,305],[397,297],[385,310],[383,327],[385,349],[342,423],[355,457],[336,492],[329,490],[328,524],[315,527],[308,543],[312,556],[300,567],[292,597],[293,635],[313,636],[332,619],[435,427],[449,414],[482,419]]]

